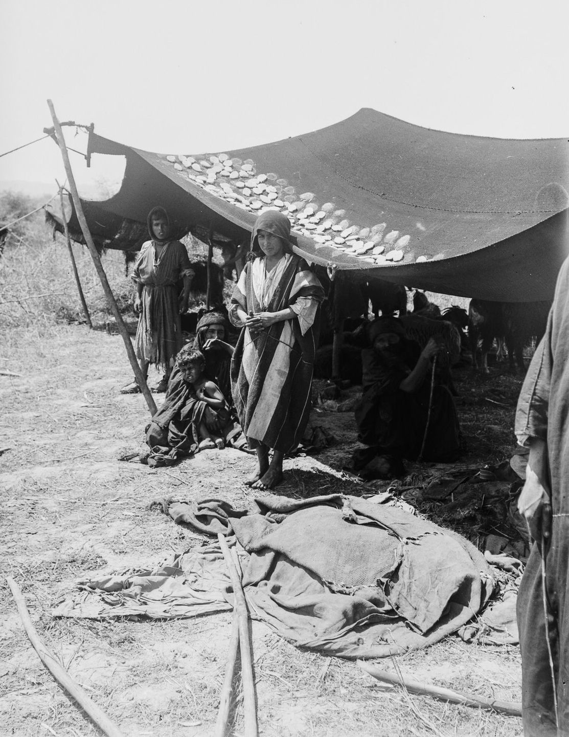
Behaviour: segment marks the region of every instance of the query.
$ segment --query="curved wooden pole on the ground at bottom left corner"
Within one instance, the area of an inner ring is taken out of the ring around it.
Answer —
[[[99,708],[95,702],[91,701],[81,686],[71,678],[65,668],[60,666],[60,663],[57,662],[54,655],[52,655],[52,653],[46,648],[32,624],[20,587],[14,579],[8,578],[7,581],[15,599],[16,606],[18,607],[18,612],[20,614],[22,624],[24,625],[24,629],[26,630],[26,635],[29,637],[29,641],[32,643],[32,646],[34,646],[35,652],[38,653],[43,665],[46,666],[55,680],[57,680],[57,682],[66,689],[68,694],[73,696],[79,706],[88,713],[91,719],[93,719],[93,722],[95,722],[95,724],[97,724],[97,726],[100,727],[108,737],[124,737],[121,730],[119,730],[119,727],[109,719],[105,712]]]

